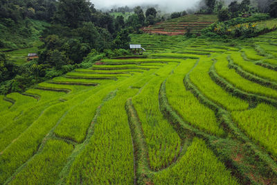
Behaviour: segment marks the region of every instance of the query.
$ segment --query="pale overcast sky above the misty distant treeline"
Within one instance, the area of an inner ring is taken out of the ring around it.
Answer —
[[[159,4],[159,7],[167,12],[186,10],[187,8],[195,7],[195,4],[199,0],[141,0],[141,1],[130,1],[130,0],[91,0],[97,9],[107,8],[110,9],[112,6],[136,6],[143,3]]]

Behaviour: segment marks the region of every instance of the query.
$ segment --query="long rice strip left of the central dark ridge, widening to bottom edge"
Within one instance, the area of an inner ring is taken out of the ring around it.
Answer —
[[[128,87],[141,77],[124,80],[118,85],[116,96],[101,107],[94,134],[73,162],[68,184],[134,183],[134,155],[125,102],[139,91]]]

